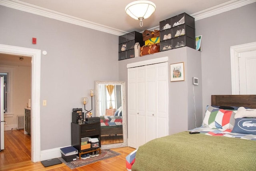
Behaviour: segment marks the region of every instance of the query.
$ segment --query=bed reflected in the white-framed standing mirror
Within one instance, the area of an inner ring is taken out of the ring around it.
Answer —
[[[123,134],[122,116],[100,116],[100,134]]]

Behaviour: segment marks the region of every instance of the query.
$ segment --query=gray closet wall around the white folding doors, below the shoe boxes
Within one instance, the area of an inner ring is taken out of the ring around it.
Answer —
[[[169,133],[186,131],[202,125],[202,84],[194,86],[192,77],[202,80],[201,73],[201,53],[192,48],[183,47],[168,50],[156,54],[146,55],[138,58],[130,58],[119,61],[119,80],[128,81],[127,64],[151,60],[168,56],[168,73],[170,64],[184,62],[185,81],[170,82],[169,79]],[[200,81],[201,82],[201,81]],[[127,93],[126,89],[126,93]],[[196,101],[196,112],[194,111],[194,94]],[[196,120],[195,121],[195,115]]]

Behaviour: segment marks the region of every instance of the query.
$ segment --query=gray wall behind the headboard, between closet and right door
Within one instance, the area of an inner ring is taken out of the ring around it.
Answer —
[[[203,111],[211,95],[232,94],[230,46],[256,42],[256,3],[196,21],[202,35]]]

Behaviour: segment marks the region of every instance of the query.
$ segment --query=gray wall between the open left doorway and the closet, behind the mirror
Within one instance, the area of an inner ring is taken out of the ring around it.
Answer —
[[[41,150],[71,145],[72,108],[83,108],[95,80],[118,80],[118,36],[4,6],[0,23],[0,44],[48,52],[41,56]]]

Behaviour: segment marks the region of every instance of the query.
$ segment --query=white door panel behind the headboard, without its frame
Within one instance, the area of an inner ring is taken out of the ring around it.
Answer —
[[[240,53],[238,61],[240,94],[256,94],[256,51]]]

